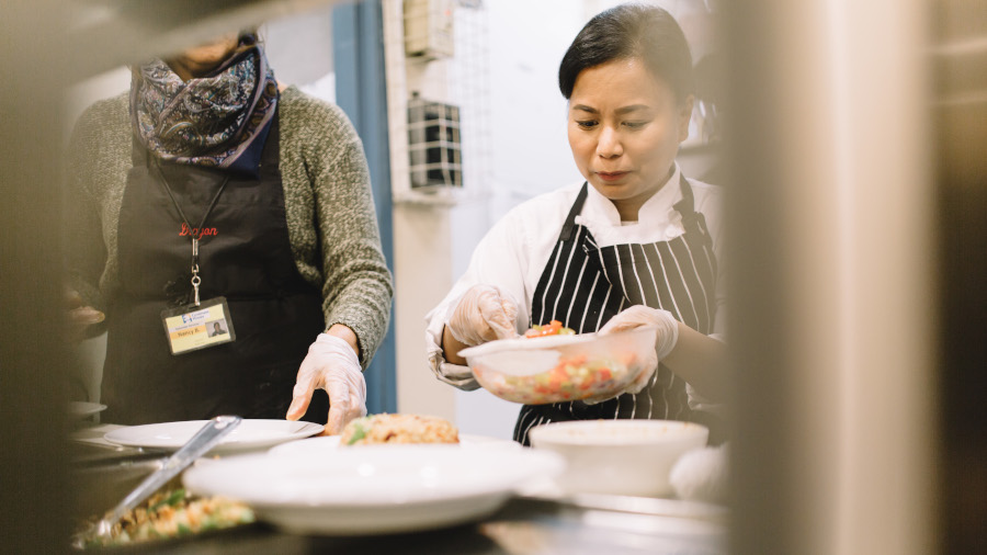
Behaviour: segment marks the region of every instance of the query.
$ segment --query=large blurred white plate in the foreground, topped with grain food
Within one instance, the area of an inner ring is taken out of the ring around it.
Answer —
[[[197,495],[241,500],[293,533],[364,535],[486,517],[564,466],[555,453],[531,449],[366,445],[324,457],[229,457],[196,465],[183,480]]]

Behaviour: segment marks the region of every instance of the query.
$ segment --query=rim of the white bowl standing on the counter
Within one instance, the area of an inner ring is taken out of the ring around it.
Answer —
[[[590,435],[567,435],[564,430],[572,429],[572,428],[583,428],[583,427],[599,427],[603,430],[614,429],[614,428],[632,428],[632,427],[645,427],[645,428],[658,428],[659,426],[676,426],[679,429],[673,430],[672,433],[668,434],[658,434],[658,435],[642,435],[642,437],[628,437],[628,435],[606,435],[606,434],[597,434],[593,437]],[[682,434],[681,432],[685,431],[688,433]],[[553,444],[553,445],[566,445],[566,446],[617,446],[617,445],[658,445],[658,444],[669,444],[683,441],[685,439],[693,439],[700,435],[705,435],[706,441],[710,438],[710,428],[706,426],[689,422],[684,420],[645,420],[645,419],[617,419],[617,420],[568,420],[563,422],[548,422],[540,426],[535,426],[531,430],[529,430],[529,438],[531,439],[531,443],[534,446],[535,443],[540,443],[542,445]]]

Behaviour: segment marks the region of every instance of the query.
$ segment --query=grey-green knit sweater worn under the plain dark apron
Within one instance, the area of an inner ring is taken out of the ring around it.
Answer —
[[[282,91],[279,117],[292,254],[302,276],[321,291],[326,329],[333,324],[352,329],[366,367],[387,331],[393,284],[363,145],[338,106],[294,87]],[[116,231],[131,137],[127,94],[122,94],[90,106],[69,145],[67,271],[70,285],[97,308],[121,286]]]

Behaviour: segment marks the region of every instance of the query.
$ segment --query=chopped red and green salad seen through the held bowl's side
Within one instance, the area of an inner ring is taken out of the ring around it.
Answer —
[[[512,375],[484,364],[473,366],[480,384],[494,395],[525,405],[586,399],[622,388],[640,371],[635,353],[560,356],[547,372]]]

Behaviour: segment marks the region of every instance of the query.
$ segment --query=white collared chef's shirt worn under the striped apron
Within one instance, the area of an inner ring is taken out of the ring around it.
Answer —
[[[682,200],[679,186],[679,168],[638,212],[638,222],[621,222],[616,206],[589,185],[586,203],[576,224],[586,226],[599,247],[623,243],[650,243],[668,241],[684,234],[682,216],[674,204]],[[716,320],[712,336],[722,338],[725,320],[724,270],[722,262],[721,204],[722,190],[716,185],[688,179],[692,186],[694,208],[703,213],[713,237],[713,252],[717,262]],[[523,333],[531,327],[531,301],[545,265],[558,240],[566,216],[576,202],[582,182],[531,199],[514,208],[494,225],[477,245],[469,267],[453,285],[445,298],[426,316],[426,346],[429,365],[435,376],[461,389],[479,387],[467,366],[451,364],[442,355],[442,331],[450,307],[469,287],[478,284],[496,285],[513,297],[518,304],[514,327]],[[536,322],[544,324],[544,322]]]

